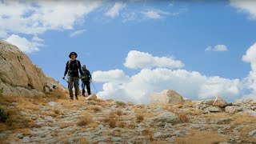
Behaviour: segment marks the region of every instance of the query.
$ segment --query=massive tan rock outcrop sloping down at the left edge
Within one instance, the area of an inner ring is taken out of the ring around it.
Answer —
[[[63,86],[48,77],[34,65],[30,58],[17,46],[0,40],[0,87],[2,95],[35,96],[45,95]]]

